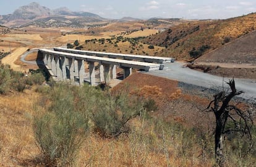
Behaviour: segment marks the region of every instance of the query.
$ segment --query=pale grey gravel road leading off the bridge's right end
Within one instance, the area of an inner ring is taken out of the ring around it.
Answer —
[[[163,78],[175,79],[188,84],[202,86],[204,88],[220,89],[223,85],[223,78],[214,76],[200,71],[184,68],[185,63],[174,62],[164,64],[163,70],[146,72],[150,75],[161,76]],[[224,78],[228,81],[231,78]],[[252,79],[236,79],[236,88],[239,91],[244,91],[240,97],[256,101],[256,81]],[[224,87],[228,88],[228,84],[224,83]]]

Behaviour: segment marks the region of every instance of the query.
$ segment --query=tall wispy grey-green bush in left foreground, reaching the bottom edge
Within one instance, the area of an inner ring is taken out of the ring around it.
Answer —
[[[73,166],[88,129],[88,119],[75,108],[71,90],[67,84],[55,85],[36,108],[35,139],[46,166]],[[51,105],[46,105],[49,101]]]

